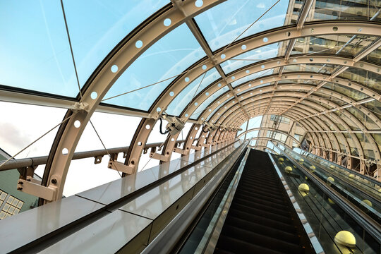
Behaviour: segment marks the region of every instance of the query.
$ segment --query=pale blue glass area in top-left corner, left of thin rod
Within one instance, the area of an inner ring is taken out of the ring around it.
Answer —
[[[78,95],[59,1],[1,1],[0,30],[1,85]]]

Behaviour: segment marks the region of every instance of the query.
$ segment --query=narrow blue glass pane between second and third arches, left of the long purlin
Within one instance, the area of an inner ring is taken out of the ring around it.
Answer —
[[[205,74],[200,75],[193,80],[179,95],[176,95],[174,100],[169,104],[166,112],[173,116],[179,116],[183,109],[191,103],[192,99],[196,97],[208,85],[212,84],[215,80],[221,78],[216,68],[211,68]],[[221,84],[217,84],[220,86]],[[221,89],[220,89],[221,90]]]

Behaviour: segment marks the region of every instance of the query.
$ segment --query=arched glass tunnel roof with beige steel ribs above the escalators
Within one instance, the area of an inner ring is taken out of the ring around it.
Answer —
[[[56,123],[52,165],[61,144],[71,147],[62,153],[71,159],[97,111],[134,117],[135,135],[125,143],[134,147],[131,156],[159,133],[157,119],[165,112],[188,124],[187,133],[157,142],[198,138],[193,124],[209,121],[242,128],[238,135],[255,136],[258,146],[265,146],[261,137],[275,136],[292,147],[295,133],[320,155],[324,149],[349,155],[353,148],[353,158],[381,168],[381,1],[11,1],[0,7],[0,100],[67,109],[65,124]],[[257,133],[249,135],[249,120],[259,116]],[[289,129],[280,130],[281,122]],[[75,128],[77,138],[66,144],[65,133]],[[141,135],[147,137],[138,140]]]

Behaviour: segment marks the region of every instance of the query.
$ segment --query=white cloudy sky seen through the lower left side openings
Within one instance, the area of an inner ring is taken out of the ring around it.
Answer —
[[[63,115],[66,113],[66,109],[11,102],[0,102],[0,109],[0,147],[10,155],[15,155],[60,123],[63,119]],[[107,123],[104,124],[105,122]],[[95,112],[92,116],[92,123],[107,148],[130,145],[139,122],[140,118],[134,116],[99,112]],[[186,134],[190,128],[191,123],[187,123],[183,129],[184,138],[186,138]],[[48,155],[56,135],[56,130],[57,128],[37,141],[37,143],[31,145],[27,150],[16,156],[16,159]],[[166,135],[159,133],[159,126],[156,125],[147,143],[164,142],[166,137]],[[181,135],[179,138],[181,138]],[[102,143],[100,143],[91,125],[88,124],[75,152],[101,149],[103,149]],[[124,162],[122,156],[122,154],[119,155],[120,162]],[[178,157],[180,157],[180,155],[174,153],[171,159]],[[73,195],[103,183],[119,179],[120,176],[117,171],[107,168],[108,161],[107,156],[103,157],[101,164],[94,164],[93,157],[73,160],[68,170],[63,195]],[[147,164],[148,161],[149,163]],[[142,155],[138,170],[142,170],[144,166],[145,169],[149,169],[157,164],[159,164],[159,161],[157,159],[150,159],[147,153],[146,155]],[[44,165],[37,167],[35,172],[42,176],[43,171]]]

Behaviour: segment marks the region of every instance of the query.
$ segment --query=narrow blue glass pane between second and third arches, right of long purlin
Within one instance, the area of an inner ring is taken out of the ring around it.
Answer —
[[[220,63],[220,66],[222,67],[222,70],[224,70],[224,73],[231,73],[232,71],[236,71],[238,68],[242,68],[243,66],[247,66],[265,59],[271,59],[278,55],[278,50],[279,44],[273,43],[235,56],[233,59]]]

